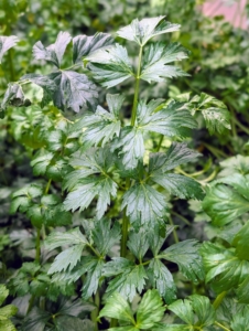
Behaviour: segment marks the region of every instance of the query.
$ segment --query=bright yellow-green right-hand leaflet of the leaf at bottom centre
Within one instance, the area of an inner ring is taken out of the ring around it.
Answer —
[[[163,318],[165,308],[156,290],[148,290],[137,311],[137,325],[142,330],[153,328]]]

